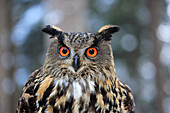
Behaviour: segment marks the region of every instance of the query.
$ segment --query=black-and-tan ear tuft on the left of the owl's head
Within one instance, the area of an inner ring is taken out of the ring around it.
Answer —
[[[41,31],[51,35],[52,36],[51,38],[53,38],[54,36],[61,35],[61,33],[63,32],[59,27],[50,25],[47,25]]]

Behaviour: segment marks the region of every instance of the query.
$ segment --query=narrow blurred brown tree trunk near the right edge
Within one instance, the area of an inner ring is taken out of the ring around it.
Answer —
[[[158,110],[159,113],[164,113],[163,110],[163,98],[164,98],[164,93],[163,93],[163,73],[162,73],[162,64],[160,63],[160,50],[161,50],[161,42],[158,40],[157,37],[157,28],[158,25],[160,24],[160,0],[150,0],[148,1],[149,4],[149,8],[151,11],[151,22],[150,22],[150,32],[153,33],[153,43],[154,43],[154,64],[156,66],[157,69],[157,73],[156,73],[156,86],[157,86],[157,97],[156,98],[156,108]]]

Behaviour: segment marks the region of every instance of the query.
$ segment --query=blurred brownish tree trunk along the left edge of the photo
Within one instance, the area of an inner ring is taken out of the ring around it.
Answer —
[[[10,35],[12,29],[11,7],[9,0],[0,2],[0,112],[15,112],[16,98],[14,98],[15,83],[14,73],[14,47],[11,44]],[[13,60],[12,60],[13,59]],[[5,64],[6,63],[6,64]],[[11,63],[11,64],[10,64]],[[7,66],[9,64],[9,66]],[[4,66],[6,65],[6,66]],[[11,82],[10,82],[11,80]],[[8,84],[9,83],[9,84]],[[13,90],[13,93],[10,92]],[[6,91],[5,91],[6,90]]]

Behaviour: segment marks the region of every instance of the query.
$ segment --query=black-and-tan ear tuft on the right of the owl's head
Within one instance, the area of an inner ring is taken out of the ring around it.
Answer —
[[[118,32],[120,28],[116,25],[105,25],[101,27],[98,31],[98,35],[102,37],[102,39],[106,41],[110,41],[112,34]]]

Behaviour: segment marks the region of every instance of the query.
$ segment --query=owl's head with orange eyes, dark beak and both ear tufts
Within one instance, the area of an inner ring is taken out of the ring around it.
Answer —
[[[110,41],[112,34],[119,31],[118,26],[105,25],[97,33],[68,33],[50,25],[42,31],[54,39],[43,66],[48,73],[87,77],[115,72]]]

